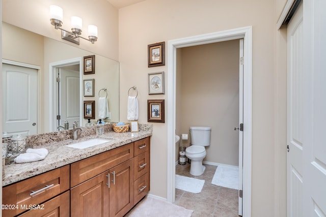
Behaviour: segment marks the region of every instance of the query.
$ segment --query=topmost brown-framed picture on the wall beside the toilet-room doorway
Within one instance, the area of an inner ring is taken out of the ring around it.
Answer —
[[[165,42],[149,44],[148,67],[165,66]]]

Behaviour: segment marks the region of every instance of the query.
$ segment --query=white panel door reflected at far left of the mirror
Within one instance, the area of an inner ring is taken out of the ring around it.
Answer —
[[[37,70],[2,65],[2,126],[9,134],[37,134]]]

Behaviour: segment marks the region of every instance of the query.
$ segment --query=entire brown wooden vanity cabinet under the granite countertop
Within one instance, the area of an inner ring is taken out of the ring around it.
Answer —
[[[149,192],[149,163],[147,137],[13,183],[3,188],[3,204],[44,209],[4,209],[3,216],[122,217]]]

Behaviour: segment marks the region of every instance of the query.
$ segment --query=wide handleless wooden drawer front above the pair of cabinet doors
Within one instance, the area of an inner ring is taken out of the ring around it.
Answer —
[[[70,186],[74,187],[107,169],[133,158],[133,143],[129,143],[96,156],[71,164]]]

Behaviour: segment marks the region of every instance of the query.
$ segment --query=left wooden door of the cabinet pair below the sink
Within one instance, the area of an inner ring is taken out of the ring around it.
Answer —
[[[108,216],[108,175],[103,172],[70,190],[71,217]]]

